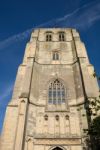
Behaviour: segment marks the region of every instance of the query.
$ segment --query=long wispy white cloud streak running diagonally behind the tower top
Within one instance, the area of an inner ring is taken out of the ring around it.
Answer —
[[[40,24],[35,28],[39,27],[73,27],[80,30],[87,29],[87,27],[92,26],[97,20],[100,19],[100,1],[96,0],[86,4],[80,8],[77,8],[70,14],[65,15],[64,17],[50,20],[46,23]],[[14,42],[22,41],[27,39],[32,32],[33,28],[19,33],[4,41],[0,42],[0,49],[3,49]]]

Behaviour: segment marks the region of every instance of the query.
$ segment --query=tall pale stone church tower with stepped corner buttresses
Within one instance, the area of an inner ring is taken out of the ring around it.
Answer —
[[[98,96],[75,29],[32,32],[8,104],[0,150],[83,150],[87,98]]]

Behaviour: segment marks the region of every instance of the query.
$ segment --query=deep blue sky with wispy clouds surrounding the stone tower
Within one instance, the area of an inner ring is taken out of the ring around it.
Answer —
[[[76,28],[100,75],[100,0],[1,0],[0,132],[25,45],[37,27]]]

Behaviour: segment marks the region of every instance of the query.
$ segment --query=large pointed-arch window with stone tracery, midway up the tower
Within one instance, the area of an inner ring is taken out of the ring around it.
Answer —
[[[65,103],[65,87],[58,79],[50,83],[48,94],[49,104]]]

